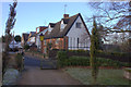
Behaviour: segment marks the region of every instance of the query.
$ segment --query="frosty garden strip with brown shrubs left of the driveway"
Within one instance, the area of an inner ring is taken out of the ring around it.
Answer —
[[[20,73],[24,70],[23,55],[21,53],[9,53],[8,58],[3,52],[2,57],[2,84],[15,85]]]

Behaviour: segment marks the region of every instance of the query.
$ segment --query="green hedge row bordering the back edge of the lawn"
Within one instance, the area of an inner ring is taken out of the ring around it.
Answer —
[[[70,57],[68,58],[67,51],[59,51],[58,52],[58,66],[70,66],[70,65],[81,65],[81,66],[90,66],[90,57]],[[121,66],[131,66],[130,63],[123,63],[119,61],[115,61],[111,59],[104,59],[104,58],[97,58],[97,62],[99,66],[115,66],[115,67],[121,67]]]

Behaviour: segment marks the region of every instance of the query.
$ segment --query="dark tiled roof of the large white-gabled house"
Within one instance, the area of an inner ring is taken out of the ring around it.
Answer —
[[[61,21],[59,21],[58,23],[56,23],[53,29],[52,29],[50,33],[48,33],[48,30],[46,32],[46,34],[45,34],[45,39],[64,37],[64,36],[68,34],[68,32],[70,30],[70,28],[72,27],[72,25],[73,25],[73,23],[75,22],[75,20],[76,20],[79,16],[82,18],[82,16],[81,16],[80,13],[79,13],[79,14],[75,14],[75,15],[73,15],[73,16],[70,16],[69,18],[62,18],[62,20],[63,20],[63,23],[67,24],[67,26],[64,27],[63,30],[60,30]],[[83,21],[83,18],[82,18],[82,21]],[[84,21],[83,21],[83,22],[84,22]],[[86,28],[86,25],[85,25],[85,24],[84,24],[84,26],[85,26],[85,28]],[[87,30],[87,28],[86,28],[86,30]],[[87,33],[88,33],[88,30],[87,30]],[[88,35],[90,35],[90,33],[88,33]]]

